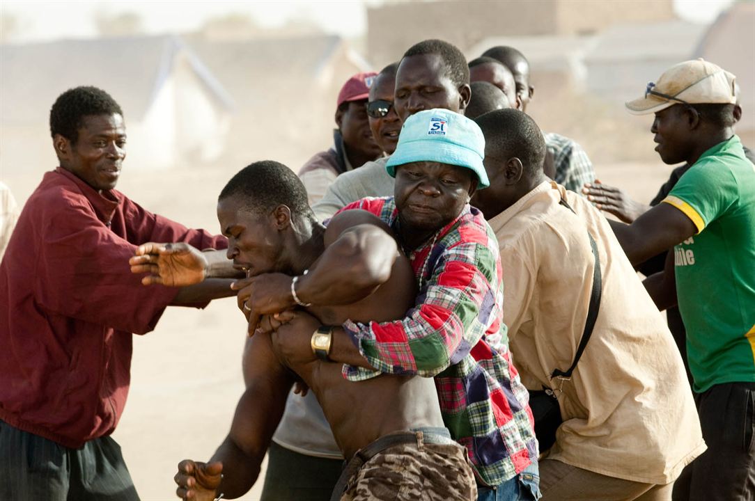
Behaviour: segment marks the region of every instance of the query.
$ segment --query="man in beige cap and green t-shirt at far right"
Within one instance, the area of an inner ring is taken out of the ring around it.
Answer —
[[[633,114],[655,113],[650,130],[666,164],[692,165],[634,223],[612,222],[635,265],[674,247],[645,285],[660,309],[680,307],[708,446],[674,499],[755,499],[755,166],[733,131],[735,101],[735,76],[699,59],[627,103]]]

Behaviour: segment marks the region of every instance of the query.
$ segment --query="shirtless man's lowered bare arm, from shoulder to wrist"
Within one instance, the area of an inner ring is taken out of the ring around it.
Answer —
[[[260,464],[283,415],[291,373],[273,353],[270,336],[247,340],[243,359],[246,390],[236,407],[227,438],[211,462],[223,462],[218,492],[233,498],[246,493],[260,474]]]

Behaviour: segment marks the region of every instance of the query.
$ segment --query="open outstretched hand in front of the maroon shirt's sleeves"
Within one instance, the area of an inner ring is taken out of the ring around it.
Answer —
[[[128,260],[131,273],[147,273],[142,284],[162,284],[169,287],[186,287],[205,279],[207,259],[190,244],[156,244],[149,242],[137,247]]]

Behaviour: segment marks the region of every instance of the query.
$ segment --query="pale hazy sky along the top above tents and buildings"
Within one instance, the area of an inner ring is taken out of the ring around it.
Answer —
[[[602,2],[604,0],[596,0]],[[652,0],[642,0],[644,2]],[[674,0],[676,13],[687,20],[707,23],[733,0]],[[38,2],[3,0],[0,15],[11,14],[17,23],[15,42],[48,41],[56,38],[91,37],[97,34],[94,17],[138,14],[149,34],[186,32],[199,28],[211,17],[247,14],[261,26],[281,26],[288,20],[308,20],[326,32],[347,38],[362,35],[367,24],[366,6],[382,0],[348,2]],[[635,2],[641,5],[641,2]],[[5,24],[5,23],[4,23]]]

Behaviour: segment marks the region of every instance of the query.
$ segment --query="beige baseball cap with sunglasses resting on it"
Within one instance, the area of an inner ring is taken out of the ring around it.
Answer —
[[[735,76],[713,63],[700,58],[675,64],[652,81],[645,97],[625,103],[633,115],[647,115],[683,104],[734,104],[736,103]]]

